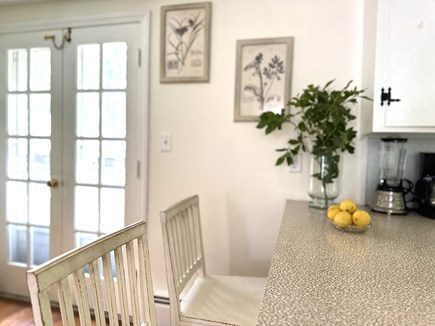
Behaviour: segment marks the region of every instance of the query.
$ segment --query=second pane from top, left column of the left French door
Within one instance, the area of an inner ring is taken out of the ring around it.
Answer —
[[[27,95],[8,95],[8,133],[11,136],[28,135]]]

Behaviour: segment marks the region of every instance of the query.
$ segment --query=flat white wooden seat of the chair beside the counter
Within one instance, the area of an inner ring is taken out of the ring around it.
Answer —
[[[182,319],[256,325],[265,286],[261,277],[198,277],[181,301]]]

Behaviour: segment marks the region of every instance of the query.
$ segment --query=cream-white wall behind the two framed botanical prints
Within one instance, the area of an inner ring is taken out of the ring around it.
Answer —
[[[288,198],[308,199],[301,173],[274,167],[287,133],[264,136],[234,123],[236,40],[294,36],[291,92],[336,78],[361,80],[363,0],[214,0],[209,83],[160,84],[160,6],[186,0],[72,1],[0,10],[0,23],[150,10],[149,230],[156,289],[165,289],[159,212],[185,196],[201,200],[208,271],[266,276]],[[160,134],[173,150],[161,153]],[[362,147],[344,156],[341,196],[363,200]]]

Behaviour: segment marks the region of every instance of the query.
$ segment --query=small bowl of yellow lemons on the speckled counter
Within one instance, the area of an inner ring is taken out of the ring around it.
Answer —
[[[326,212],[328,221],[341,231],[361,233],[371,228],[371,216],[351,199],[345,199],[338,205],[331,205]]]

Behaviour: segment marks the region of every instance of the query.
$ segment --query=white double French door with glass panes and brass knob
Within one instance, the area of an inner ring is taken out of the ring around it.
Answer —
[[[0,36],[0,292],[144,218],[142,27]]]

